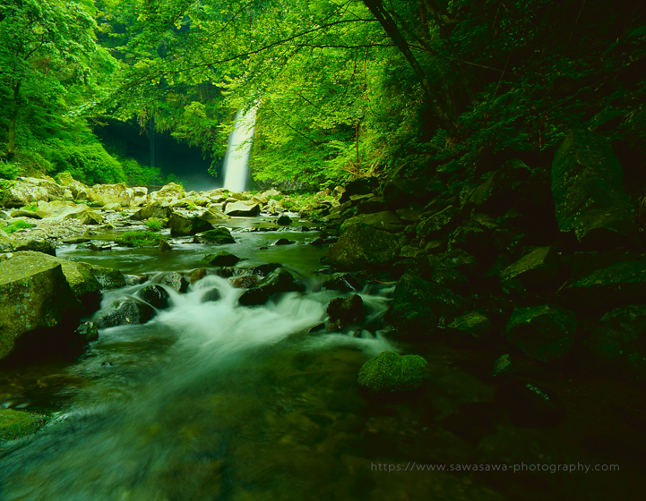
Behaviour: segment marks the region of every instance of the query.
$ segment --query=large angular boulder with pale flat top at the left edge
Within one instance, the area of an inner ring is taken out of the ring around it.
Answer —
[[[16,252],[0,262],[0,359],[13,351],[22,335],[42,328],[73,327],[74,318],[78,324],[79,309],[56,258]]]

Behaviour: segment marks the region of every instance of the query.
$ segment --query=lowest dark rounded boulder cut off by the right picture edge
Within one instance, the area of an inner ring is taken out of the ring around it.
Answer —
[[[608,311],[587,341],[592,366],[633,381],[646,380],[646,306]]]

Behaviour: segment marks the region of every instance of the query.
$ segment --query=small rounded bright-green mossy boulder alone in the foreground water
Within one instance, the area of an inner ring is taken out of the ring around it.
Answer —
[[[361,367],[357,382],[373,395],[413,390],[422,385],[426,364],[419,355],[381,352]]]

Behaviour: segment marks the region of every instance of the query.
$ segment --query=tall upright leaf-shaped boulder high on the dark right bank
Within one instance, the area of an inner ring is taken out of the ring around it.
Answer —
[[[580,242],[617,242],[634,231],[634,211],[624,191],[624,172],[607,140],[569,131],[552,164],[552,193],[562,232]]]

